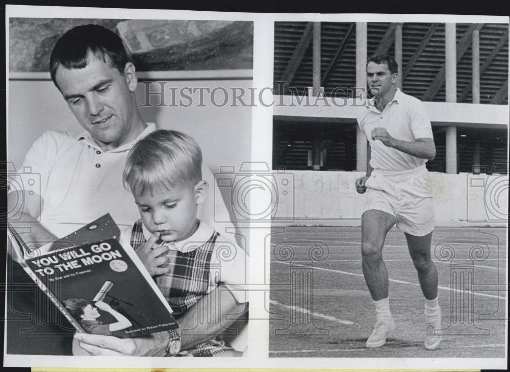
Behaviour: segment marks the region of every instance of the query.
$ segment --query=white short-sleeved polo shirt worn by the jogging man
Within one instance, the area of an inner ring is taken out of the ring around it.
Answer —
[[[423,103],[397,89],[393,100],[382,112],[375,107],[375,100],[369,101],[366,112],[358,119],[360,128],[367,136],[372,150],[370,165],[374,169],[402,171],[417,168],[427,162],[388,147],[380,140],[372,139],[372,130],[385,128],[396,139],[415,141],[417,138],[433,138],[428,113]]]

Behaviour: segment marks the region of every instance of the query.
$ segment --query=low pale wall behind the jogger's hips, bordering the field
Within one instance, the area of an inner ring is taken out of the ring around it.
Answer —
[[[437,226],[499,226],[507,220],[508,176],[430,175]],[[280,197],[276,225],[360,226],[365,196],[356,193],[354,182],[362,176],[362,172],[288,171],[293,195]]]

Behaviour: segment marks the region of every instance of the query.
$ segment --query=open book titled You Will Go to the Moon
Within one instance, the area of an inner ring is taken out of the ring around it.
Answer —
[[[37,250],[8,226],[17,261],[78,331],[139,337],[179,328],[110,214]]]

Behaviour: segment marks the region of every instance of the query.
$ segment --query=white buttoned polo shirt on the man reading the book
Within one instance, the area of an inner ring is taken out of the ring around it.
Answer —
[[[140,214],[133,195],[122,184],[122,172],[133,145],[155,130],[156,125],[149,123],[135,140],[106,152],[86,131],[45,132],[33,143],[23,162],[23,167],[31,167],[32,173],[39,173],[41,178],[41,225],[58,238],[106,213],[119,227],[131,226]],[[219,206],[216,201],[214,205],[212,185],[217,186],[211,170],[203,163],[202,178],[210,189],[206,201],[199,206],[198,218],[218,231],[233,227],[231,222],[221,226],[215,223],[214,213],[219,216],[218,221],[230,218],[224,203]]]

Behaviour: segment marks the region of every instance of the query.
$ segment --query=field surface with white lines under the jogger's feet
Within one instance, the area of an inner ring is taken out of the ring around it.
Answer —
[[[505,229],[434,231],[432,260],[439,273],[442,325],[449,333],[435,351],[423,346],[424,297],[404,235],[396,229],[387,235],[383,258],[397,328],[384,346],[364,347],[375,323],[375,310],[363,278],[360,241],[361,228],[272,230],[270,357],[505,356]],[[309,254],[313,252],[317,255]],[[451,252],[454,258],[448,260]],[[315,259],[313,263],[310,257]],[[292,283],[307,278],[313,278],[311,286],[295,288],[311,290],[290,290]]]

